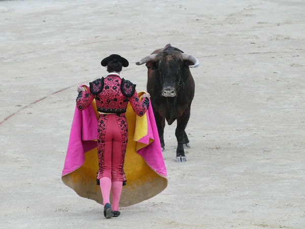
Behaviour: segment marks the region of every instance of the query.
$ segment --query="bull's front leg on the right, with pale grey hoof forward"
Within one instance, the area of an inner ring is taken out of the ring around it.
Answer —
[[[176,138],[177,138],[177,151],[176,160],[177,162],[185,162],[187,160],[183,144],[185,140],[189,140],[185,132],[187,124],[190,119],[190,108],[187,108],[182,116],[177,119]],[[187,138],[186,138],[187,137]]]

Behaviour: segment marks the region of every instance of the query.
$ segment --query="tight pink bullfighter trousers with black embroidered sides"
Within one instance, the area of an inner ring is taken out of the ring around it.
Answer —
[[[125,181],[124,161],[128,141],[125,113],[100,115],[98,127],[98,179]]]

